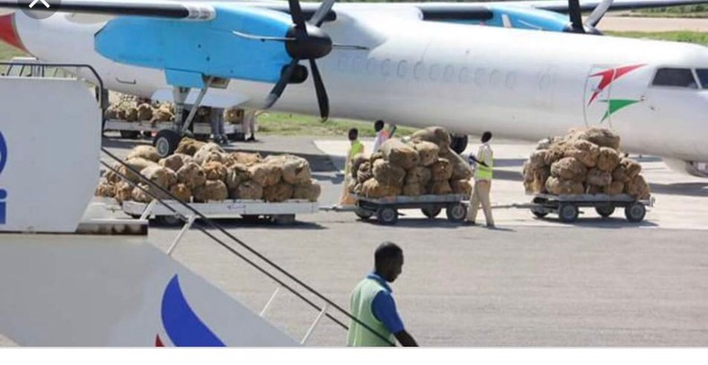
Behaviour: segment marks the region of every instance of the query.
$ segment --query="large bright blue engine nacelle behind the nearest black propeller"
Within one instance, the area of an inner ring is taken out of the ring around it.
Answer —
[[[235,35],[283,38],[292,21],[267,9],[215,6],[208,22],[120,17],[95,35],[102,56],[128,65],[164,70],[174,86],[202,87],[204,76],[275,83],[292,56],[283,42]]]

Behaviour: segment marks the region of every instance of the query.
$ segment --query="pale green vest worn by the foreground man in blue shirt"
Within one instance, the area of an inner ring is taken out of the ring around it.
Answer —
[[[371,304],[379,291],[385,291],[385,288],[375,279],[366,278],[359,282],[351,292],[351,315],[387,338],[390,343],[386,343],[384,339],[372,333],[365,326],[352,320],[347,333],[347,346],[391,346],[391,343],[395,343],[394,334],[388,331],[383,322],[376,319],[371,310]]]

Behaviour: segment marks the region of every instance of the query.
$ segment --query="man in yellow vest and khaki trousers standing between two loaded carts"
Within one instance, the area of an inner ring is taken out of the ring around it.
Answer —
[[[476,224],[474,220],[477,218],[477,211],[482,204],[484,218],[487,221],[487,227],[494,228],[494,217],[491,216],[491,176],[494,169],[494,152],[491,151],[489,144],[491,140],[491,132],[487,131],[482,134],[482,145],[477,151],[477,156],[474,157],[470,153],[470,161],[476,164],[474,168],[474,187],[472,197],[470,198],[470,209],[467,211],[467,223]]]

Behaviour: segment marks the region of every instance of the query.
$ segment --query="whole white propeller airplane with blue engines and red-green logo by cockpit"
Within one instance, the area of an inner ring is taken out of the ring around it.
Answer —
[[[606,126],[625,152],[708,177],[708,48],[585,34],[607,10],[705,2],[577,3],[63,0],[47,19],[4,15],[0,38],[93,65],[108,89],[174,100],[178,120],[184,104],[383,119],[444,126],[458,152],[485,130],[537,140]],[[155,145],[167,154],[181,136],[159,131]]]

